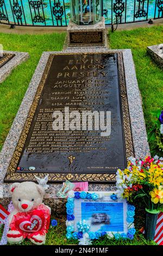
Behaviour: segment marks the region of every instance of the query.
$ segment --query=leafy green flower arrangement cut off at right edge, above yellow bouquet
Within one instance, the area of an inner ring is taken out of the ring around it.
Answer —
[[[163,156],[163,111],[158,109],[151,114],[154,129],[149,132],[148,137],[152,145],[152,153],[158,150],[159,154]]]

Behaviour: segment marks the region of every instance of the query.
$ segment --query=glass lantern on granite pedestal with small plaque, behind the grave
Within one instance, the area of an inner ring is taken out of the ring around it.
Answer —
[[[71,0],[67,27],[68,46],[105,45],[101,0]]]

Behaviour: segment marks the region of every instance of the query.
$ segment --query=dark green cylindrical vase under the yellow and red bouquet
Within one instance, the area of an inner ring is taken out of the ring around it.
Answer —
[[[145,225],[145,238],[147,240],[154,240],[156,221],[158,218],[158,210],[146,209],[146,225]]]

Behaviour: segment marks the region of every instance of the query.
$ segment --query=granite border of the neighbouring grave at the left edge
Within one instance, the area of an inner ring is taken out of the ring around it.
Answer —
[[[4,64],[0,68],[0,83],[2,83],[7,76],[10,75],[11,71],[16,68],[17,65],[20,65],[22,62],[29,58],[28,52],[13,52],[13,51],[3,51],[4,53],[12,53],[15,56]]]

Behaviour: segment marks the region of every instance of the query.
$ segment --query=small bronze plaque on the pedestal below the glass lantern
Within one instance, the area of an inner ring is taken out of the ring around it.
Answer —
[[[70,32],[70,44],[103,44],[103,32]]]

